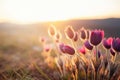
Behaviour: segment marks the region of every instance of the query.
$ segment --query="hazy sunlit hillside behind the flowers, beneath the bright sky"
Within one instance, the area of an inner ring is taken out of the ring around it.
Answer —
[[[120,37],[120,18],[89,19],[89,20],[66,20],[56,22],[43,22],[34,24],[0,23],[0,35],[37,37],[47,34],[47,28],[54,24],[57,28],[64,29],[67,25],[76,30],[82,26],[89,29],[104,29],[106,36]],[[7,36],[8,37],[8,36]]]

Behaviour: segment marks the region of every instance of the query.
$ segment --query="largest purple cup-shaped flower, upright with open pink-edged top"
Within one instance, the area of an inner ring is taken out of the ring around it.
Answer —
[[[94,46],[97,46],[98,44],[100,44],[103,38],[104,38],[103,30],[94,30],[91,32],[90,35],[90,43]]]

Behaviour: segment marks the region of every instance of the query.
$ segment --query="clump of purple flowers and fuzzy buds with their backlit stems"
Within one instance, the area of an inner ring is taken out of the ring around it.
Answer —
[[[55,28],[48,30],[55,36]],[[62,35],[59,33],[59,35]],[[65,29],[66,40],[57,39],[58,54],[56,64],[62,79],[67,80],[117,80],[120,71],[116,56],[120,53],[120,38],[105,38],[103,30]]]

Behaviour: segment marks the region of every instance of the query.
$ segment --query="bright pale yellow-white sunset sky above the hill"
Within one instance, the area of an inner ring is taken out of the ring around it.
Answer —
[[[120,0],[0,0],[0,22],[119,17]]]

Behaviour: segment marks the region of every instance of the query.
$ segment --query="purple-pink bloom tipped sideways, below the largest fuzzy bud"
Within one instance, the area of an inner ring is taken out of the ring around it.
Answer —
[[[60,50],[61,50],[63,53],[67,53],[67,54],[70,54],[70,55],[75,54],[74,48],[72,48],[72,47],[69,46],[69,45],[60,44],[60,45],[59,45],[59,48],[60,48]]]

